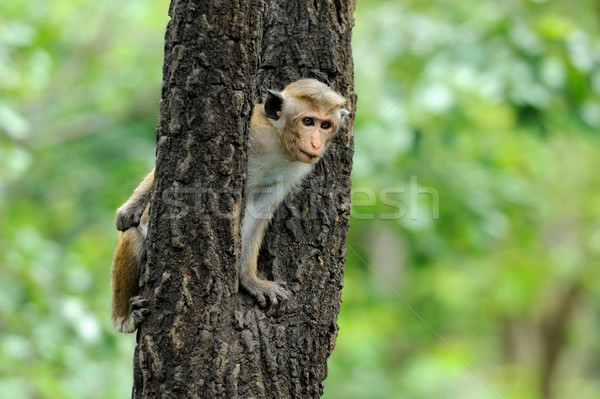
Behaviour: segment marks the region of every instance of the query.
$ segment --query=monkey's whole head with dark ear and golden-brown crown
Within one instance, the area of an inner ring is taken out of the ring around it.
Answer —
[[[269,90],[265,114],[279,133],[289,158],[314,163],[321,158],[348,111],[344,97],[315,79],[302,79],[281,93]]]

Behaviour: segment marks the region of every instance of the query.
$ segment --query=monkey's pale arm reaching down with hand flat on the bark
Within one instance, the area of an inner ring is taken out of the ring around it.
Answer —
[[[260,245],[273,214],[273,208],[281,202],[277,197],[279,196],[271,193],[263,196],[251,196],[248,199],[242,223],[239,280],[240,285],[258,300],[260,307],[266,306],[266,298],[268,298],[272,308],[277,308],[281,302],[279,310],[283,310],[289,299],[287,290],[279,283],[258,278],[256,274]]]

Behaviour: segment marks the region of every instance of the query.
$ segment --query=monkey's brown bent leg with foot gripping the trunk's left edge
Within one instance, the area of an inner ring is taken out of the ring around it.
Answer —
[[[148,301],[138,296],[139,278],[146,258],[146,242],[137,227],[131,227],[117,236],[113,257],[112,321],[115,329],[134,332],[148,313]]]

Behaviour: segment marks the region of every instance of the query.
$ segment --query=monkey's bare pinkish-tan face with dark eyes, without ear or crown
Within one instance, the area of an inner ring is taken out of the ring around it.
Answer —
[[[319,112],[302,113],[296,118],[296,159],[315,163],[321,158],[335,134],[336,125],[329,115]]]

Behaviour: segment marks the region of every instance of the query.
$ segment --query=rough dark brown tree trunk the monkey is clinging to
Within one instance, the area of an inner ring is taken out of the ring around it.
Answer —
[[[259,275],[285,281],[267,317],[237,292],[252,104],[301,77],[355,109],[354,1],[172,0],[156,129],[150,315],[137,334],[134,398],[313,398],[337,336],[350,211],[353,119],[276,213]]]

